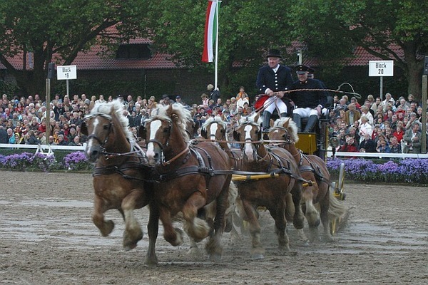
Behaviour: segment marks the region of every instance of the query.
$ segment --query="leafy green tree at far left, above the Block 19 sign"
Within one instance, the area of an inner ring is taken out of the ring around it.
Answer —
[[[0,63],[24,93],[44,94],[47,65],[69,65],[79,51],[114,45],[133,36],[146,13],[146,0],[1,0]],[[115,28],[111,28],[115,26]],[[27,70],[27,56],[34,58]],[[23,58],[15,68],[10,59]]]

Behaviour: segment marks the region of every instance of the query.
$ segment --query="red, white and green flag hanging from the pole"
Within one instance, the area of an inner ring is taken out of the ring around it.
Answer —
[[[203,53],[202,61],[203,62],[213,62],[213,44],[215,43],[215,37],[217,36],[217,13],[220,9],[220,1],[210,1],[208,0],[208,9],[205,19],[205,36],[203,42]]]

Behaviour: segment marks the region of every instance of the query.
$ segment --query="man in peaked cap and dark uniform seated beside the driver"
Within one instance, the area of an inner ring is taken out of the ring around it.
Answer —
[[[297,66],[296,72],[299,80],[292,83],[291,89],[324,89],[320,81],[307,78],[309,73],[307,66]],[[327,102],[326,92],[319,90],[295,91],[290,93],[290,98],[295,104],[292,120],[295,121],[298,131],[302,130],[302,118],[309,118],[303,133],[312,132],[321,115],[322,108],[324,108]]]

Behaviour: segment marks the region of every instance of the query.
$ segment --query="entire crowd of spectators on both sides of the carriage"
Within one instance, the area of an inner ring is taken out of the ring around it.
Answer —
[[[192,111],[193,120],[203,125],[210,116],[221,116],[228,126],[237,124],[241,116],[251,115],[255,111],[254,103],[241,86],[239,93],[224,101],[208,85],[206,93],[200,96],[200,102],[188,105],[180,95],[163,95],[156,100],[154,96],[142,98],[128,95],[123,101],[123,115],[128,117],[134,134],[138,126],[146,120],[158,104],[183,104]],[[3,94],[0,100],[0,143],[12,144],[50,144],[50,145],[83,145],[85,135],[81,134],[81,123],[97,102],[113,100],[112,96],[86,94],[73,96],[56,95],[51,101],[49,118],[46,105],[38,94],[28,98],[8,98]],[[334,96],[330,108],[330,137],[339,139],[338,151],[352,152],[421,152],[421,116],[422,106],[414,101],[413,95],[403,96],[397,100],[390,93],[385,99],[368,95],[360,104],[356,98],[348,100],[347,95],[341,98]],[[46,139],[46,128],[50,136]],[[137,135],[137,134],[136,134]],[[230,134],[231,135],[231,134]]]

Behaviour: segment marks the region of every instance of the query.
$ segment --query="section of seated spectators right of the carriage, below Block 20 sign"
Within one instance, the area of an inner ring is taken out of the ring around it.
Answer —
[[[390,93],[384,100],[368,95],[362,105],[356,98],[335,96],[330,137],[339,139],[338,151],[421,153],[422,112],[412,94],[407,100],[394,100]]]

